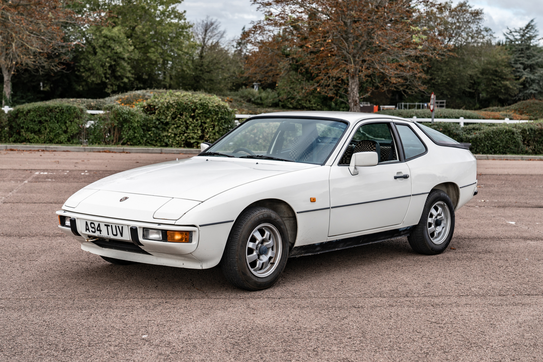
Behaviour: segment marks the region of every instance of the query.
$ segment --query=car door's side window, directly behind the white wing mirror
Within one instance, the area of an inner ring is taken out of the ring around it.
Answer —
[[[398,152],[390,123],[370,123],[360,126],[352,137],[339,164],[350,164],[353,153],[375,151],[379,163],[398,161]]]

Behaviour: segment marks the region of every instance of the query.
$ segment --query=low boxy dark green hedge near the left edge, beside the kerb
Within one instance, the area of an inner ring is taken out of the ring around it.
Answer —
[[[7,114],[8,142],[79,143],[85,108],[63,103],[28,103]]]

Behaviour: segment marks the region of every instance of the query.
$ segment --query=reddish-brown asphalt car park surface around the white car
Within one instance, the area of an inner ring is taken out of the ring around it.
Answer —
[[[406,238],[289,259],[273,287],[118,266],[55,211],[107,175],[190,155],[0,153],[2,361],[540,361],[543,162],[478,161],[450,248]]]

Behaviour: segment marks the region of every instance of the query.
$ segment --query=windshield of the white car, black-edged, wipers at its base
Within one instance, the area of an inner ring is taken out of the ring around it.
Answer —
[[[204,153],[217,157],[280,158],[322,164],[346,128],[345,123],[335,120],[250,119]]]

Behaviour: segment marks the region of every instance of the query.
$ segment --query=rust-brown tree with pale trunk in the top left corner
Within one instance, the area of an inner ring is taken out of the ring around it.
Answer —
[[[18,68],[38,72],[62,69],[66,51],[65,27],[89,19],[78,16],[61,0],[0,0],[0,68],[4,78],[2,105],[11,99],[11,77]]]

